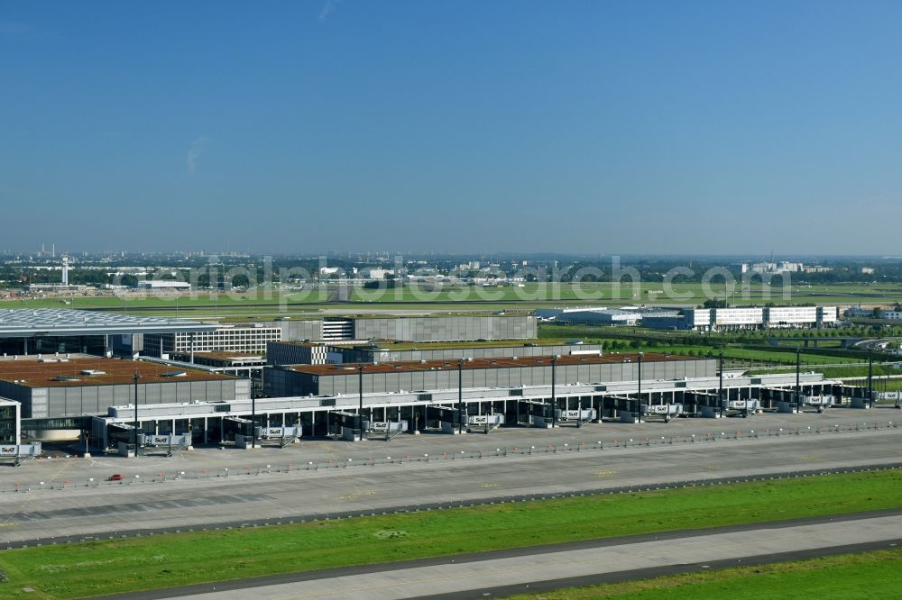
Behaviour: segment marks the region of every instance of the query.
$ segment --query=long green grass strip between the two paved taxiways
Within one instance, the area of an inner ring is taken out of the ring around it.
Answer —
[[[600,471],[598,477],[604,477]],[[0,552],[3,598],[75,598],[646,532],[902,507],[902,469]],[[479,532],[479,535],[474,535]],[[35,591],[24,592],[23,587]]]

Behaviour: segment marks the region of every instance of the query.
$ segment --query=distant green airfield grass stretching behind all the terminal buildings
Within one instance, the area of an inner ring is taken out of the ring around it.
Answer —
[[[217,317],[251,316],[264,318],[278,314],[302,314],[318,307],[341,308],[349,313],[366,312],[367,306],[380,305],[406,307],[411,310],[418,306],[449,311],[469,309],[501,310],[515,308],[536,308],[555,305],[701,305],[711,298],[723,299],[723,283],[702,286],[695,283],[675,283],[672,294],[665,294],[660,283],[643,283],[638,288],[628,280],[621,285],[612,283],[584,284],[542,284],[527,283],[522,287],[454,286],[433,291],[427,287],[400,286],[392,289],[366,290],[353,287],[347,303],[330,302],[334,296],[331,289],[309,287],[303,290],[278,290],[271,287],[257,288],[246,292],[198,291],[190,295],[167,297],[132,297],[124,299],[115,296],[76,296],[68,298],[73,308],[94,308],[108,310],[129,310],[137,314],[196,315],[207,318],[216,313]],[[670,290],[668,290],[670,291]],[[762,286],[753,284],[744,289],[736,289],[730,295],[731,305],[776,305],[793,304],[893,304],[902,302],[902,285],[865,286],[860,284],[833,284],[830,286]],[[0,302],[3,308],[45,308],[63,306],[64,300],[6,300]],[[214,306],[215,305],[215,306]],[[219,312],[222,311],[222,314]]]

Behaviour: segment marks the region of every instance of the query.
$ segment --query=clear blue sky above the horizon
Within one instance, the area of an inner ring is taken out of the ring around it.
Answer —
[[[900,23],[0,0],[0,250],[899,254]]]

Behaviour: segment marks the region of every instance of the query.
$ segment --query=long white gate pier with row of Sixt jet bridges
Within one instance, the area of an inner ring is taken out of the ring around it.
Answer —
[[[281,438],[345,435],[360,428],[388,437],[389,431],[489,432],[493,426],[580,426],[619,419],[665,419],[661,415],[713,417],[749,413],[753,405],[794,410],[812,399],[831,403],[857,397],[861,388],[842,386],[818,373],[755,377],[691,377],[678,381],[643,380],[608,384],[450,388],[417,392],[367,393],[262,398],[234,402],[110,408],[91,420],[92,439],[104,447],[133,439],[137,418],[140,433],[166,441],[189,435],[195,444],[220,444],[236,436]],[[660,410],[667,409],[667,410]],[[360,419],[356,417],[359,415]],[[391,428],[391,423],[399,423]],[[354,438],[356,439],[356,438]]]

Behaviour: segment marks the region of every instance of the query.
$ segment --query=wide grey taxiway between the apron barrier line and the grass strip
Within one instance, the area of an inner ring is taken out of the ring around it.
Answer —
[[[65,470],[83,461],[55,462]],[[7,545],[48,543],[62,536],[109,537],[249,519],[275,523],[324,513],[381,513],[485,498],[898,462],[902,428],[32,489],[0,494],[0,536]]]

